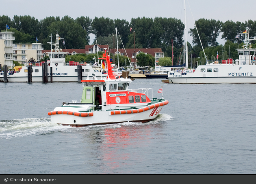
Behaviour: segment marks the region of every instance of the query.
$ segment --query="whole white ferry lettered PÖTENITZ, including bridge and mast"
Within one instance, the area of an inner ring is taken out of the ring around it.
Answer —
[[[215,61],[206,65],[200,65],[195,70],[177,70],[182,67],[173,67],[168,72],[166,83],[256,83],[256,49],[252,49],[249,41],[249,29],[246,28],[245,44],[243,48],[236,49],[239,59],[227,59]],[[187,62],[186,62],[187,63]]]

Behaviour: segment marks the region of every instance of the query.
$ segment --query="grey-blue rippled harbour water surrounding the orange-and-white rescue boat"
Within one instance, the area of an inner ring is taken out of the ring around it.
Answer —
[[[75,128],[48,112],[80,101],[77,82],[0,83],[0,174],[255,174],[256,86],[166,84],[169,101],[148,123]],[[102,117],[104,118],[104,117]]]

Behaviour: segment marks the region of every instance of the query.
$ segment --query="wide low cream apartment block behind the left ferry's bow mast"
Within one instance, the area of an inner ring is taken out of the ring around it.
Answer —
[[[33,58],[38,62],[43,57],[42,46],[42,43],[13,44],[13,61],[24,64],[30,58]]]

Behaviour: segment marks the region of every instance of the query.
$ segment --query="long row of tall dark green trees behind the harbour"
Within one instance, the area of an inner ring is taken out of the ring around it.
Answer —
[[[237,59],[238,53],[235,49],[242,47],[243,35],[239,38],[236,36],[245,31],[249,27],[249,35],[256,36],[256,21],[248,20],[243,22],[233,22],[228,20],[226,22],[216,21],[214,19],[198,19],[195,21],[197,30],[199,32],[202,45],[204,47],[207,59],[215,59],[218,52],[222,58]],[[56,30],[65,38],[66,49],[81,49],[85,48],[90,42],[89,34],[95,35],[98,44],[108,44],[109,48],[113,48],[113,40],[115,37],[115,27],[117,28],[124,47],[134,48],[134,34],[136,48],[161,48],[165,53],[165,57],[172,57],[171,40],[173,40],[174,62],[183,49],[184,23],[180,19],[155,17],[146,18],[138,17],[132,18],[129,21],[124,19],[109,19],[105,17],[77,17],[73,19],[69,16],[65,17],[46,17],[45,19],[35,19],[30,15],[17,16],[13,19],[7,15],[0,16],[0,29],[6,31],[6,25],[10,27],[8,31],[15,32],[15,40],[13,43],[43,43],[44,49],[50,49],[49,35],[56,34]],[[132,30],[130,29],[132,28]],[[188,30],[192,36],[192,44],[187,42],[189,63],[196,65],[196,61],[200,60],[202,55],[202,47],[197,36],[195,27]],[[223,45],[217,42],[217,37],[222,34],[225,42],[225,49]],[[64,49],[64,45],[60,44]],[[121,41],[119,41],[119,48],[123,48]],[[256,48],[256,43],[252,42],[252,48]],[[225,53],[223,53],[225,51]],[[202,58],[201,58],[202,59]],[[192,62],[191,62],[192,61]],[[204,60],[201,60],[204,63]]]

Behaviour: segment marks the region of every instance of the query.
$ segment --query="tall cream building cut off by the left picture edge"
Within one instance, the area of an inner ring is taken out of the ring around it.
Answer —
[[[0,64],[13,67],[13,32],[0,32]]]

